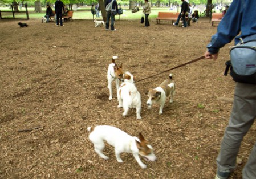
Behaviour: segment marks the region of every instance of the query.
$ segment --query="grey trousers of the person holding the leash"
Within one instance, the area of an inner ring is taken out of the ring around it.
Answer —
[[[234,92],[234,104],[222,139],[217,168],[220,172],[235,168],[236,157],[243,136],[249,131],[256,118],[256,85],[237,83]],[[243,168],[243,179],[256,178],[256,143]]]

